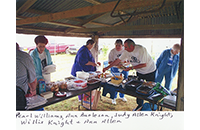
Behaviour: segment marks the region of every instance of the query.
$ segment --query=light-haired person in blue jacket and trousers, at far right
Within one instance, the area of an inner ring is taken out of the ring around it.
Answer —
[[[161,83],[165,77],[165,88],[170,91],[173,78],[179,66],[180,45],[175,44],[171,49],[164,50],[156,62],[155,81]]]

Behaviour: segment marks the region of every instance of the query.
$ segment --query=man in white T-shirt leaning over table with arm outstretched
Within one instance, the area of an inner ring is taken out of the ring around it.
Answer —
[[[146,81],[155,80],[156,65],[148,54],[146,48],[141,45],[136,45],[131,39],[127,39],[124,42],[125,51],[122,55],[113,61],[109,66],[103,69],[103,72],[109,68],[118,65],[122,60],[127,60],[132,64],[132,67],[127,67],[124,71],[129,71],[135,69],[137,71],[137,76],[139,79],[144,79]],[[137,108],[143,105],[143,100],[137,98]]]

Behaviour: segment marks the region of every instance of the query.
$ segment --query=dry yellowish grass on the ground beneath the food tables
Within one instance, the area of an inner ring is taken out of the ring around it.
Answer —
[[[98,102],[98,106],[96,111],[132,111],[135,108],[136,100],[134,97],[125,96],[128,100],[127,102],[123,102],[121,99],[117,99],[117,104],[113,105],[111,103],[111,99],[109,98],[109,94],[104,97],[101,96],[101,100]],[[58,102],[56,104],[45,107],[47,111],[78,111],[78,97],[73,97],[62,102]],[[86,109],[81,107],[80,110],[85,111]]]

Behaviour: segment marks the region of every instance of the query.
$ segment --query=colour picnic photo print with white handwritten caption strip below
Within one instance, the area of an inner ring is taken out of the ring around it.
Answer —
[[[16,0],[16,129],[184,129],[184,4]]]

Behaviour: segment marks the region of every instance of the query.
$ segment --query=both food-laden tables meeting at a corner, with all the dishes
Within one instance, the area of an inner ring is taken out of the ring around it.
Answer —
[[[136,76],[129,75],[128,79],[123,79],[120,73],[77,72],[77,77],[66,77],[64,80],[45,84],[37,87],[37,95],[27,98],[27,110],[36,110],[80,94],[84,94],[80,107],[86,109],[96,109],[99,97],[95,97],[97,92],[102,90],[102,96],[110,93],[113,98],[115,91],[134,96],[158,106],[171,109],[175,108],[174,94],[170,93],[159,83],[138,80]],[[95,91],[94,91],[95,90]],[[98,95],[99,96],[99,95]],[[96,99],[97,98],[97,99]],[[166,99],[166,100],[165,100]],[[173,101],[171,101],[173,100]],[[97,103],[96,103],[97,101]],[[96,104],[96,106],[94,106]],[[154,105],[153,105],[154,106]],[[152,110],[155,110],[152,107]],[[158,110],[158,109],[157,109]]]

